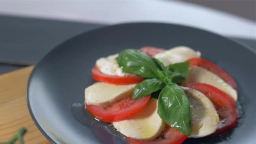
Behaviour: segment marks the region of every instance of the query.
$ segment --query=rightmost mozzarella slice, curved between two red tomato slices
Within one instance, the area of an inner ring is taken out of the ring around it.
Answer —
[[[224,93],[227,93],[234,101],[237,101],[237,91],[232,88],[227,82],[221,79],[218,75],[208,71],[202,67],[189,68],[189,74],[185,80],[185,84],[189,83],[206,83],[219,88]]]

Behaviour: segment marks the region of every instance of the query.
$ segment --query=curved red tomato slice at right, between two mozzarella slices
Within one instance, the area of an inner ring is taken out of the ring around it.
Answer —
[[[218,129],[215,133],[224,132],[236,125],[237,112],[235,109],[235,104],[226,93],[213,87],[212,85],[204,83],[190,83],[186,86],[189,88],[194,88],[195,90],[205,94],[205,96],[207,96],[213,103],[220,117]]]

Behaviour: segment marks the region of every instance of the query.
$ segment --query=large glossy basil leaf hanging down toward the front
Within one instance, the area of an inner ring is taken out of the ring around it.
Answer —
[[[165,85],[158,97],[157,113],[172,128],[185,135],[190,134],[189,100],[178,85]]]

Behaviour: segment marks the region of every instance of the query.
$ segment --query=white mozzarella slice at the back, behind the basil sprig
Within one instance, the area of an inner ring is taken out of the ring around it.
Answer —
[[[168,66],[169,64],[183,62],[190,58],[200,57],[200,55],[199,51],[194,51],[192,48],[178,46],[162,53],[157,53],[154,57],[162,61],[165,66]]]

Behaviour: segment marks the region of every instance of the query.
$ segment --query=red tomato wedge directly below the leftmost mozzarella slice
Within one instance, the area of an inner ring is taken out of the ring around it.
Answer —
[[[141,111],[149,102],[150,96],[144,96],[139,99],[133,99],[129,96],[121,101],[111,104],[107,107],[100,107],[95,105],[86,105],[88,111],[97,119],[111,123],[119,120],[125,120],[137,112]]]

